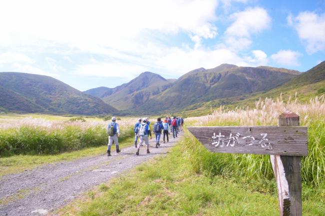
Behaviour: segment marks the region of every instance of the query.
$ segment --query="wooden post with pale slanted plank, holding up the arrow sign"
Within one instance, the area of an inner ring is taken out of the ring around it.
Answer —
[[[278,126],[299,126],[299,116],[286,110],[278,117]],[[270,157],[276,185],[280,216],[302,216],[300,156]]]

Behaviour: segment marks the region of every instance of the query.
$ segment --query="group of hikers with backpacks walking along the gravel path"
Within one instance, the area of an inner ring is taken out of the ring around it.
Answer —
[[[143,146],[143,142],[146,145],[146,154],[150,154],[149,151],[149,137],[152,139],[150,121],[147,117],[139,118],[138,122],[135,123],[133,131],[135,135],[134,146],[137,148],[136,155],[139,155],[140,147]],[[165,140],[169,142],[169,135],[177,137],[180,131],[183,131],[184,119],[181,117],[169,117],[167,116],[163,121],[161,118],[157,118],[157,121],[153,125],[153,133],[155,135],[155,148],[160,146],[160,137],[163,135],[163,143]],[[116,153],[119,153],[118,137],[119,137],[119,126],[116,123],[116,118],[112,117],[111,122],[107,126],[108,145],[107,145],[107,156],[110,155],[110,147],[115,143]],[[166,139],[165,139],[166,138]],[[139,144],[137,145],[138,139]]]

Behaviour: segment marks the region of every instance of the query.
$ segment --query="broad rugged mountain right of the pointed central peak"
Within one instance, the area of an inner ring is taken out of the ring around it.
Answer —
[[[221,64],[212,69],[198,68],[181,76],[174,85],[150,98],[141,112],[177,112],[194,104],[267,91],[300,73],[272,67],[238,67]]]

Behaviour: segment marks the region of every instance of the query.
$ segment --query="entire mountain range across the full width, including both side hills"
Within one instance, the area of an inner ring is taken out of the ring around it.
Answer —
[[[198,68],[178,79],[143,72],[120,86],[84,92],[48,76],[1,72],[0,110],[80,115],[201,115],[210,112],[210,107],[246,106],[259,97],[277,97],[281,93],[298,92],[299,98],[309,98],[320,94],[324,87],[325,61],[302,73],[232,64]]]

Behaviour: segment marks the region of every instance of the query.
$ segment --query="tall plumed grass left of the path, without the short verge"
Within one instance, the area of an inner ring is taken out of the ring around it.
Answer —
[[[119,141],[133,135],[136,119],[117,121]],[[107,145],[106,127],[109,121],[69,118],[12,118],[0,124],[0,156],[49,155],[88,147]]]

